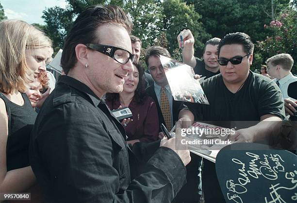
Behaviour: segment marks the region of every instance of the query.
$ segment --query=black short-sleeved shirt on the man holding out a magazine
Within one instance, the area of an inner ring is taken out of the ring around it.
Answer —
[[[195,115],[195,120],[228,128],[233,128],[234,125],[246,128],[257,123],[247,121],[260,121],[261,116],[266,114],[284,118],[281,90],[272,80],[263,75],[249,71],[247,80],[236,93],[228,90],[221,74],[204,80],[201,86],[210,105],[188,103],[187,107]],[[203,160],[203,164],[202,182],[205,202],[224,203],[214,163]]]

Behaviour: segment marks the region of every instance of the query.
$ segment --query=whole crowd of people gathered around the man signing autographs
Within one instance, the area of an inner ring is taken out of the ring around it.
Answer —
[[[148,47],[146,72],[132,28],[118,6],[87,8],[68,31],[55,84],[46,70],[49,37],[21,20],[0,22],[0,193],[31,192],[36,203],[198,203],[203,186],[206,203],[224,202],[214,163],[203,160],[201,171],[201,157],[178,149],[162,123],[179,135],[196,120],[257,121],[230,139],[297,149],[296,134],[281,134],[283,120],[297,112],[297,98],[287,93],[297,82],[289,54],[267,59],[257,74],[247,34],[208,40],[200,60],[194,36],[183,30],[183,63],[205,77],[210,105],[181,102],[160,61],[170,53]],[[111,110],[122,107],[132,118],[115,118]]]

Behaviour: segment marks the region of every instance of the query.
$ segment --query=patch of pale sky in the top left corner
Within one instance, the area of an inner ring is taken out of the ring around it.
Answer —
[[[42,11],[53,6],[66,7],[65,0],[0,0],[8,19],[21,19],[44,25]]]

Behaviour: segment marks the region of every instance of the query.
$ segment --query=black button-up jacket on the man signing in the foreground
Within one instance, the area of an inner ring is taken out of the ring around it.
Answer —
[[[169,203],[184,183],[185,167],[159,145],[136,143],[132,151],[105,102],[61,76],[36,118],[30,161],[48,202]],[[148,161],[134,180],[132,160]]]

